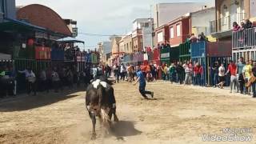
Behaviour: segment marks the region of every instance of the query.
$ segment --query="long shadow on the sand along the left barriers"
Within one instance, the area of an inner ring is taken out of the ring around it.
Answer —
[[[74,94],[82,90],[64,91],[61,93],[39,93],[36,96],[25,96],[14,98],[10,101],[0,102],[0,112],[22,111],[38,108],[41,106],[51,105],[55,102],[61,102],[69,98],[77,97]]]

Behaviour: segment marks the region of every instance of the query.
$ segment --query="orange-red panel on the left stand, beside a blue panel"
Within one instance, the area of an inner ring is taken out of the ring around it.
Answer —
[[[50,59],[50,47],[37,46],[35,48],[35,59],[49,60]]]

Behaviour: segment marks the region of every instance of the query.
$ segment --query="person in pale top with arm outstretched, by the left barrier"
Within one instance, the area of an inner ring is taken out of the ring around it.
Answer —
[[[18,70],[18,72],[26,75],[26,94],[30,95],[31,91],[33,91],[34,95],[36,95],[36,77],[31,68],[23,71]]]

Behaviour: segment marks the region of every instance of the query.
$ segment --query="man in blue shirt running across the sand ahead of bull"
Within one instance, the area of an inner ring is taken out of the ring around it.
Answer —
[[[145,99],[148,99],[146,94],[150,94],[151,98],[154,98],[154,92],[147,91],[145,90],[146,88],[146,79],[144,74],[142,73],[142,70],[140,67],[138,67],[138,72],[137,72],[137,80],[134,83],[134,86],[139,82],[139,92],[142,94],[142,97]]]

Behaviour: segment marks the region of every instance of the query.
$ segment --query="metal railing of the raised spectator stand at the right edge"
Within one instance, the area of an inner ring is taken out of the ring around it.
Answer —
[[[256,27],[232,33],[233,49],[256,46]]]

